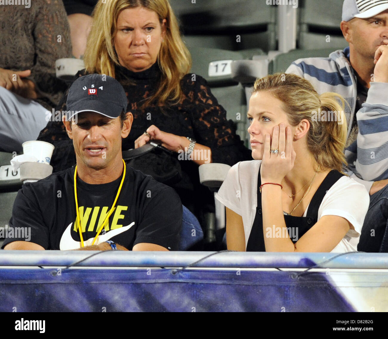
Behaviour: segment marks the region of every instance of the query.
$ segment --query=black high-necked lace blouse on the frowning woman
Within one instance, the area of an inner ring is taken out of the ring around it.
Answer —
[[[155,125],[163,132],[178,136],[191,137],[197,143],[211,149],[212,161],[234,165],[243,160],[252,160],[249,151],[236,134],[232,120],[226,119],[226,111],[218,104],[211,94],[207,82],[196,75],[187,74],[181,80],[183,99],[174,105],[163,107],[151,104],[142,109],[142,103],[154,89],[157,88],[161,72],[155,63],[151,68],[142,72],[132,72],[122,66],[116,66],[116,79],[123,86],[128,98],[127,111],[133,114],[132,129],[128,137],[123,139],[123,150],[134,148],[135,140],[151,125]],[[85,75],[79,71],[76,77]],[[62,97],[57,111],[66,111],[68,90]],[[59,120],[59,119],[57,119]],[[47,141],[55,146],[51,165],[54,172],[66,169],[76,163],[73,142],[66,134],[64,125],[60,121],[50,121],[40,132],[38,140]],[[204,193],[199,183],[198,165],[192,161],[182,161],[182,182],[174,185],[182,202],[190,208],[197,194],[201,191],[208,196],[208,189]],[[199,190],[199,191],[198,191]],[[193,195],[194,193],[194,195]],[[199,197],[203,200],[203,196]],[[207,200],[207,199],[205,199]],[[213,200],[211,198],[209,202]],[[196,205],[196,203],[194,203]],[[192,209],[193,210],[193,209]]]

